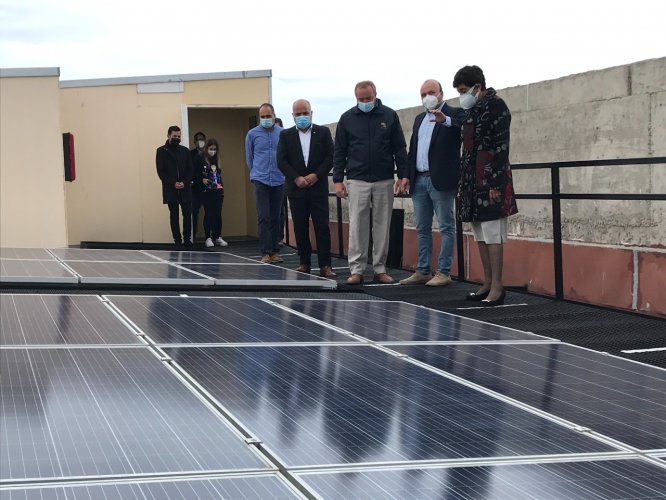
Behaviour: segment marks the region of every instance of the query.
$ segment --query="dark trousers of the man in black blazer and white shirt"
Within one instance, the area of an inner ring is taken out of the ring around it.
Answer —
[[[331,265],[331,232],[328,227],[328,196],[311,196],[306,191],[303,198],[289,198],[291,218],[294,222],[296,247],[301,264],[310,266],[312,245],[310,244],[310,217],[317,242],[317,261],[319,267]]]

